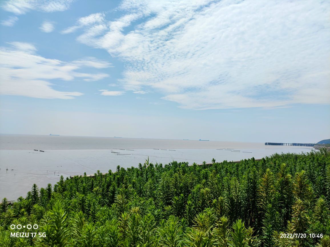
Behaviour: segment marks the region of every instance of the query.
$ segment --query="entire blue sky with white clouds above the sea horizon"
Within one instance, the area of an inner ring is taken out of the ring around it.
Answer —
[[[5,0],[0,133],[330,138],[330,2]]]

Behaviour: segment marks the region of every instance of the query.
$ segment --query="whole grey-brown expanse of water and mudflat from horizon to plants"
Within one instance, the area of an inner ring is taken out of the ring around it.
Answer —
[[[34,183],[47,187],[60,176],[91,175],[97,170],[106,173],[118,165],[137,167],[148,158],[153,164],[174,160],[202,164],[213,158],[238,161],[312,149],[254,142],[0,134],[0,200],[25,197]]]

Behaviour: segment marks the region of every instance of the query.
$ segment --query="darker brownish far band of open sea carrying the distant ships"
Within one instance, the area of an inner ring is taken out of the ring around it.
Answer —
[[[87,136],[7,135],[0,134],[0,150],[68,150],[68,149],[272,149],[256,142],[219,142],[144,138]]]

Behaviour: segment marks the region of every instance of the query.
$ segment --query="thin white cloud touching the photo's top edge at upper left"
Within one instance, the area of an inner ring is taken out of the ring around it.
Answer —
[[[42,12],[65,11],[75,0],[7,0],[2,9],[14,14],[25,14],[31,10]]]

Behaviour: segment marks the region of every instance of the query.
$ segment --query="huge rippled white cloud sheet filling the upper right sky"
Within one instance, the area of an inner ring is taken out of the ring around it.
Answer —
[[[120,10],[78,20],[77,40],[125,62],[125,90],[188,109],[330,103],[329,1],[125,0]]]

